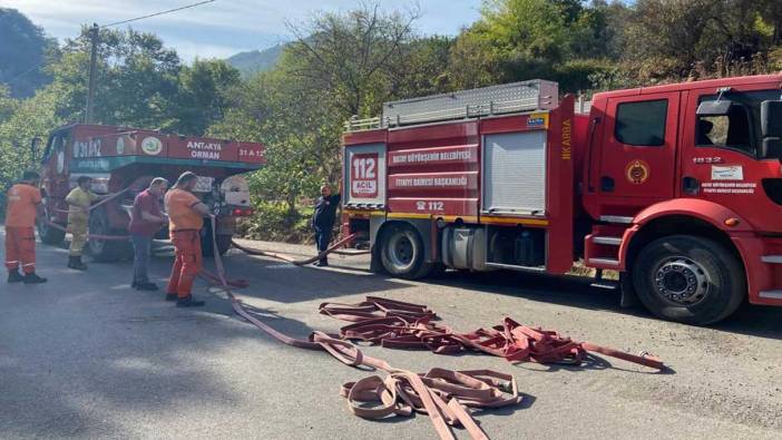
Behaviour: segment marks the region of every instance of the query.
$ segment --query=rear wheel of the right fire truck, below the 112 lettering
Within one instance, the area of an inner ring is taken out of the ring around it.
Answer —
[[[385,272],[400,278],[422,278],[432,270],[423,258],[421,237],[410,226],[394,225],[385,231],[380,258]]]

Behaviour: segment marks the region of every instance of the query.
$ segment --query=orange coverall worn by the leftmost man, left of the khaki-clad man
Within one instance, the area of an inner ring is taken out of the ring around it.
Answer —
[[[36,208],[41,192],[29,184],[17,184],[8,190],[6,208],[6,268],[25,274],[36,272]]]

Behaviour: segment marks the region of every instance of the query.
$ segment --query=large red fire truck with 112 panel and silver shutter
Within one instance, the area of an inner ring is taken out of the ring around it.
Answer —
[[[405,278],[583,261],[667,320],[782,305],[781,86],[608,91],[586,111],[545,80],[388,102],[346,123],[343,227]]]

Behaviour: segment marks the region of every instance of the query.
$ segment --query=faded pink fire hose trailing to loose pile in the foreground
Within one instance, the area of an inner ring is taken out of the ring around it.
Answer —
[[[470,438],[488,440],[488,436],[478,426],[468,408],[486,409],[516,405],[524,400],[516,380],[509,374],[490,370],[451,371],[432,369],[426,374],[391,366],[388,362],[364,355],[358,346],[339,336],[320,331],[312,332],[307,340],[291,338],[263,323],[253,309],[243,304],[232,292],[232,286],[246,286],[246,282],[229,282],[225,276],[223,260],[217,252],[215,219],[212,222],[212,241],[215,250],[216,274],[206,271],[202,275],[207,281],[221,286],[231,301],[233,310],[247,322],[277,341],[306,350],[323,350],[340,362],[351,366],[369,366],[382,370],[388,377],[371,375],[342,387],[341,394],[348,399],[348,405],[354,414],[368,419],[381,419],[391,415],[410,415],[413,411],[428,414],[438,436],[442,440],[454,439],[452,427],[463,427]],[[343,238],[344,242],[352,236]],[[333,246],[341,245],[338,242]],[[313,260],[314,261],[314,260]],[[398,306],[416,307],[416,304],[394,302]],[[365,407],[373,403],[373,407]]]

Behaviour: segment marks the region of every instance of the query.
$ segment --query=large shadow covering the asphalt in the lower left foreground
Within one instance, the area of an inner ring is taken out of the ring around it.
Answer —
[[[183,407],[193,402],[234,408],[246,398],[208,366],[233,368],[214,353],[243,340],[278,346],[236,325],[227,301],[207,297],[206,313],[176,309],[162,291],[130,290],[129,262],[88,261],[86,276],[65,267],[67,251],[38,250],[49,283],[0,286],[2,438],[133,438],[150,419],[192,417]],[[294,336],[312,332],[294,319],[264,319]]]

